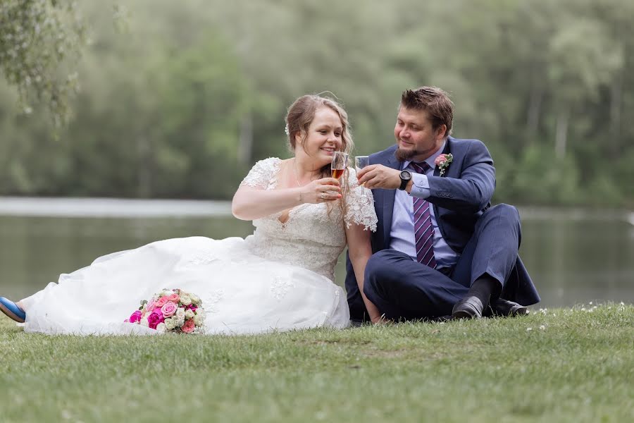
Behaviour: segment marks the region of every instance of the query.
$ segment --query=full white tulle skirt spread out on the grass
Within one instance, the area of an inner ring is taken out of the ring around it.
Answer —
[[[349,326],[344,292],[330,279],[254,255],[242,238],[175,238],[99,257],[23,300],[27,332],[150,335],[124,320],[163,288],[198,295],[205,333]]]

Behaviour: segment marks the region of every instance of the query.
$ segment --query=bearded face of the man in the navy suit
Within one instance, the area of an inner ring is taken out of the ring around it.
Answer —
[[[430,157],[445,140],[445,125],[434,130],[427,111],[401,107],[394,125],[397,157],[423,161]]]

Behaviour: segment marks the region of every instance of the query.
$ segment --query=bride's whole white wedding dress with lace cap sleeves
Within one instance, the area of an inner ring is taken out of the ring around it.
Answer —
[[[259,161],[242,184],[275,189],[281,160]],[[345,211],[302,204],[254,220],[247,238],[161,240],[135,250],[99,257],[90,266],[62,274],[58,283],[23,300],[27,332],[151,334],[124,319],[162,288],[199,295],[206,333],[263,333],[349,325],[346,296],[334,280],[346,245],[345,225],[376,230],[371,192],[362,195],[354,170]]]

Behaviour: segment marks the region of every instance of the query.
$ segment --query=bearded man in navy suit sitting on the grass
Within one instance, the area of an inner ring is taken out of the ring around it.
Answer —
[[[479,140],[450,137],[452,121],[446,92],[406,90],[396,145],[357,175],[378,216],[363,295],[387,319],[509,316],[540,301],[518,257],[517,210],[491,206],[493,160]],[[368,320],[349,259],[346,289],[352,320]]]

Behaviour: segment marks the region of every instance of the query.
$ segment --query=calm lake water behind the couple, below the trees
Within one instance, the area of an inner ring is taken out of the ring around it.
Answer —
[[[218,202],[0,199],[0,295],[23,298],[100,255],[154,240],[226,238],[253,231],[251,222],[227,212],[228,204]],[[536,307],[634,302],[631,214],[520,212],[520,255],[542,297]],[[343,284],[344,274],[342,257],[337,283]]]

